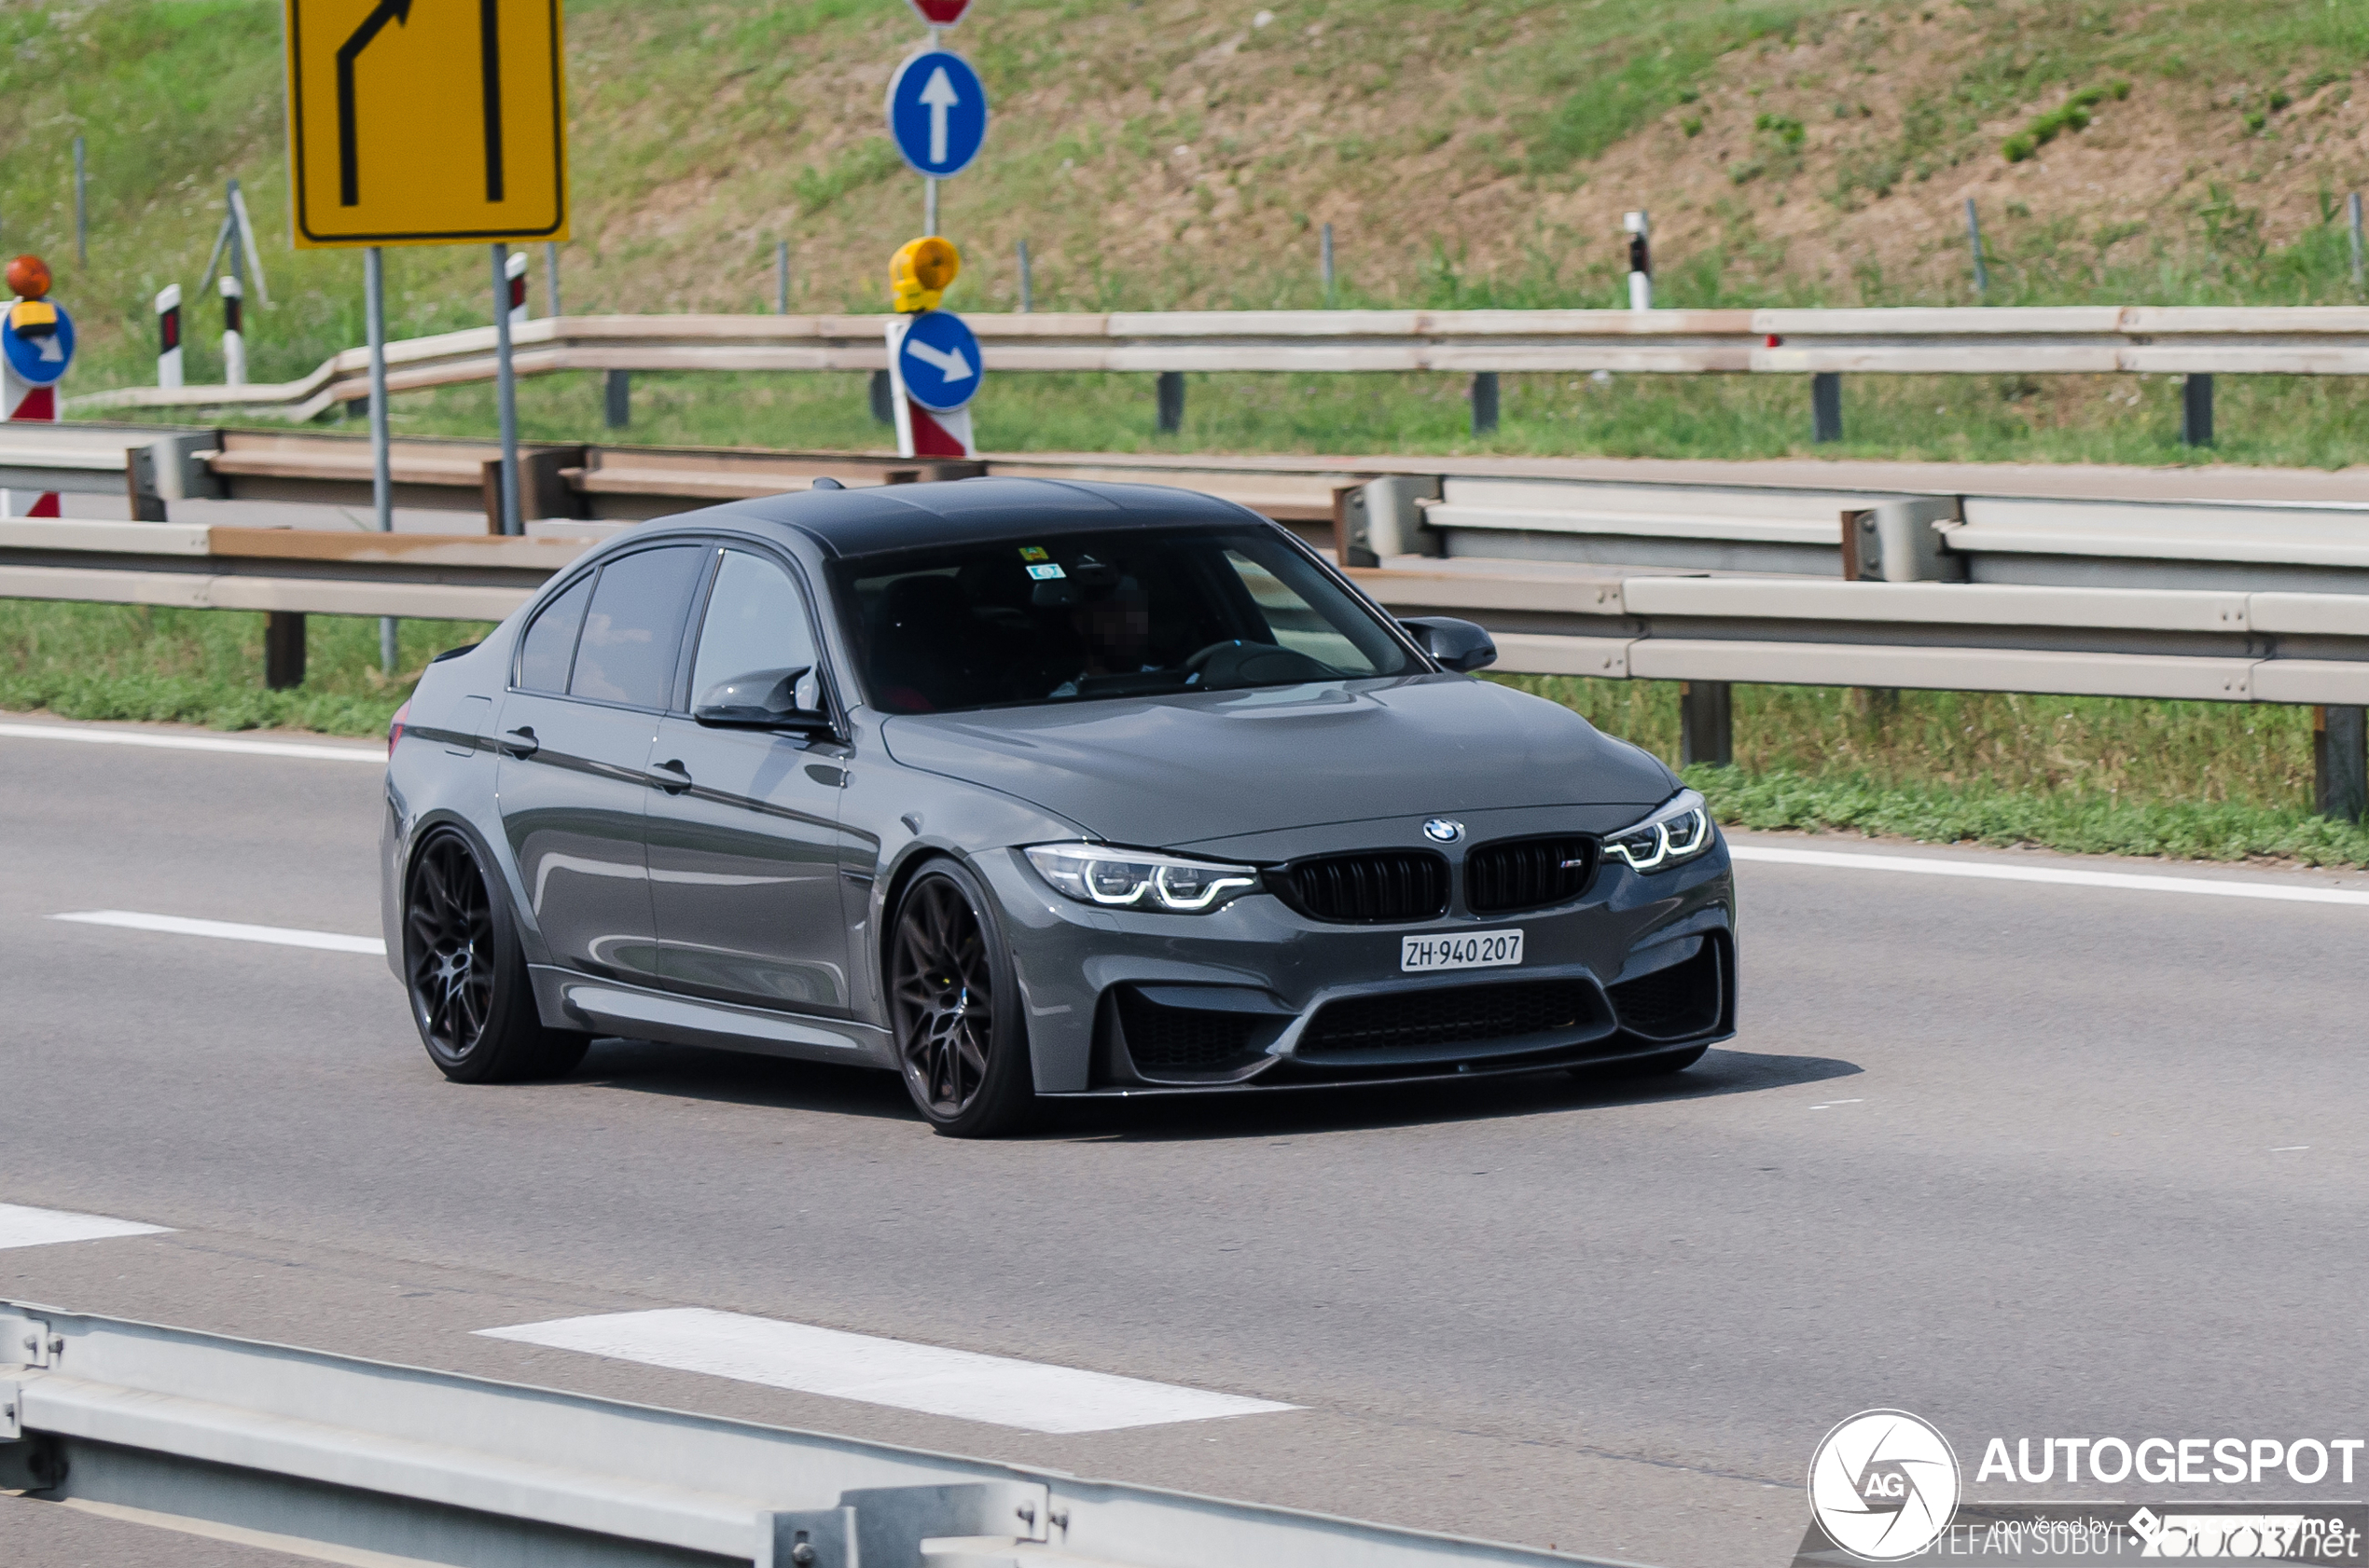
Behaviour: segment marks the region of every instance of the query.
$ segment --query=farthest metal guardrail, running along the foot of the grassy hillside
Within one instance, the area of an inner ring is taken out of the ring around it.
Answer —
[[[561,315],[516,327],[516,374],[884,369],[884,315]],[[2362,374],[2369,308],[1139,310],[967,315],[993,372]],[[389,391],[490,381],[493,327],[386,346]],[[296,381],[126,386],[69,407],[310,419],[367,398],[348,348]]]

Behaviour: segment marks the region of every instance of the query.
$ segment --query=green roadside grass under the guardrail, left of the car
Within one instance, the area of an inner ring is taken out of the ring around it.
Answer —
[[[405,621],[400,670],[381,675],[377,621],[308,616],[306,685],[265,692],[263,616],[0,599],[0,711],[384,734],[426,661],[483,632],[457,621]]]

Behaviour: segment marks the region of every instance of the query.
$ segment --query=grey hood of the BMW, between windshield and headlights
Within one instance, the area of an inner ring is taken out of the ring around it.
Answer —
[[[1462,675],[891,718],[888,756],[1175,848],[1293,827],[1519,805],[1623,808],[1677,779],[1561,703]]]

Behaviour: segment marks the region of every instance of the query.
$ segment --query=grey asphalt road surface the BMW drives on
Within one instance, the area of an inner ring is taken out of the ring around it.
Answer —
[[[374,957],[50,919],[374,936],[377,810],[351,763],[0,739],[0,1201],[173,1227],[0,1251],[0,1296],[1668,1568],[1789,1561],[1876,1405],[1969,1480],[2360,1426],[2369,907],[1744,865],[1744,1033],[1668,1085],[1009,1144],[633,1042],[457,1087]],[[471,1334],[656,1305],[1301,1409],[1040,1435]],[[62,1514],[0,1497],[0,1556],[287,1561]]]

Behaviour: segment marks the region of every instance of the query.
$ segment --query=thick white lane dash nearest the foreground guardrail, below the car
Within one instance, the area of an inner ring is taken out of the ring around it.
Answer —
[[[1104,1433],[1123,1426],[1298,1409],[1206,1388],[1147,1383],[1109,1371],[1047,1367],[708,1307],[561,1317],[516,1329],[479,1329],[479,1334],[1033,1433]]]

